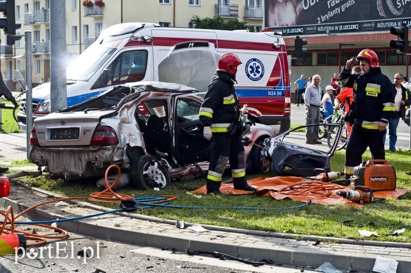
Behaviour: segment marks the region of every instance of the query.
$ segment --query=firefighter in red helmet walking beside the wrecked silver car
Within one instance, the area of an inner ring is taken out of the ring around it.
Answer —
[[[218,69],[200,108],[204,138],[209,141],[212,139],[207,194],[221,194],[221,177],[229,160],[234,189],[256,190],[247,184],[246,155],[241,143],[241,113],[234,89],[240,64],[236,54],[227,53],[220,57]]]

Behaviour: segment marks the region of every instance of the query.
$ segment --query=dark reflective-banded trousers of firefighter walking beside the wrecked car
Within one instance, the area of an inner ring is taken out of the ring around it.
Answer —
[[[219,190],[222,174],[228,161],[230,161],[234,188],[246,186],[246,154],[241,143],[241,136],[231,137],[227,133],[213,134],[207,190]]]

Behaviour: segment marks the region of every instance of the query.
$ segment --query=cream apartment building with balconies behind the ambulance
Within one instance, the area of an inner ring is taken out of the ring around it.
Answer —
[[[15,0],[17,33],[31,31],[32,82],[50,78],[50,2]],[[255,31],[263,29],[263,0],[66,0],[67,62],[76,58],[109,26],[128,22],[150,22],[161,26],[191,27],[193,15],[237,17]],[[3,39],[5,41],[5,38]],[[25,40],[2,46],[1,71],[11,90],[25,86]]]

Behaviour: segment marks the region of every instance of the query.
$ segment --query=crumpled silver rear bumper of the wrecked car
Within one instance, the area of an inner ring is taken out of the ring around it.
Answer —
[[[39,161],[39,166],[48,166],[50,173],[79,175],[86,170],[91,161],[120,163],[124,151],[114,146],[98,148],[40,148],[33,147],[30,153],[32,162]]]

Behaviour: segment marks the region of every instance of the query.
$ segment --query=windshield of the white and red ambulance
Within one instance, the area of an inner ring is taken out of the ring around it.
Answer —
[[[84,51],[67,67],[67,81],[88,81],[114,51],[116,48],[104,47]]]

